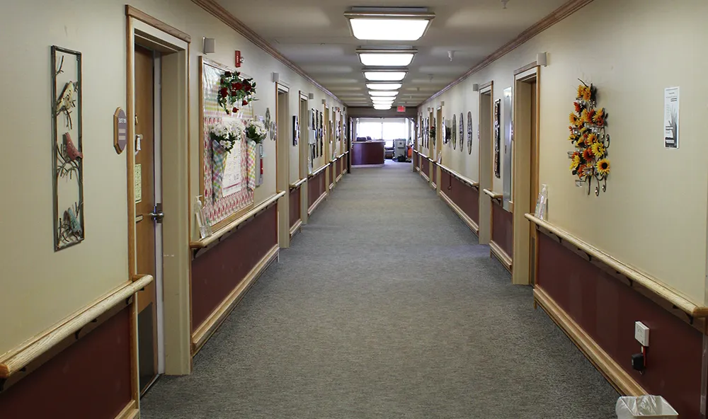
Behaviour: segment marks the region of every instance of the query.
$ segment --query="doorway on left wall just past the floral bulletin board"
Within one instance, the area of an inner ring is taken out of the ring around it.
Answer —
[[[288,130],[287,115],[290,113],[288,109],[288,93],[287,86],[276,84],[277,88],[277,103],[275,104],[275,121],[278,129],[275,130],[275,149],[276,149],[276,186],[277,190],[290,190],[290,136],[291,130]],[[290,196],[285,194],[278,201],[278,243],[280,248],[290,247]]]

